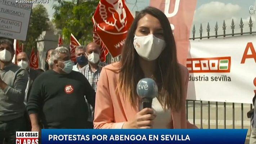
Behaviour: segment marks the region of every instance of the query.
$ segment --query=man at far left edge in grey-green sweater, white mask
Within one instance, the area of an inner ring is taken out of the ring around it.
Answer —
[[[15,144],[16,131],[25,131],[26,69],[12,63],[13,43],[0,39],[0,143]],[[5,139],[5,142],[4,142]]]

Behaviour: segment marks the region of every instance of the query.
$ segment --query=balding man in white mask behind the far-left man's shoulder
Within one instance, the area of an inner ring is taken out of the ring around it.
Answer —
[[[24,99],[24,104],[27,105],[27,100],[31,91],[32,84],[35,81],[36,77],[41,74],[41,72],[33,68],[30,68],[29,66],[30,61],[28,59],[28,55],[25,52],[19,53],[16,59],[17,59],[18,66],[27,69],[27,72],[28,72],[28,82],[25,90],[25,99]],[[31,131],[31,122],[26,110],[25,110],[24,116],[26,118],[26,130]]]

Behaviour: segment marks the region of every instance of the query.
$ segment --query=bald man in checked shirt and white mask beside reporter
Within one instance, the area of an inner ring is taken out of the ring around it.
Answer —
[[[93,89],[97,90],[97,82],[99,80],[100,72],[102,67],[106,66],[105,63],[100,62],[100,48],[94,42],[90,42],[86,46],[85,56],[88,60],[88,64],[79,70],[90,82],[90,85]],[[88,105],[91,116],[88,118],[88,121],[91,122],[91,126],[93,128],[93,119],[94,119],[94,109]]]

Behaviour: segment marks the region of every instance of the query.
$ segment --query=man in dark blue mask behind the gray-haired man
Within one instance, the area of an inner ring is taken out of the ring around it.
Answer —
[[[83,68],[87,63],[87,58],[85,57],[86,47],[85,46],[77,46],[75,50],[76,55],[76,62],[73,66],[73,71],[79,71],[81,68]]]

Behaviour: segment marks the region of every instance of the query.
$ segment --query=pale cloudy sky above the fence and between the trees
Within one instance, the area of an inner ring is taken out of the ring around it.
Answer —
[[[71,0],[67,0],[71,1]],[[149,6],[150,0],[126,0],[126,5],[130,11],[135,14],[135,11],[140,11],[146,6]],[[52,6],[54,5],[53,0],[49,0],[48,4],[44,4],[45,8],[48,10],[49,18],[51,19],[54,13]],[[35,5],[33,5],[35,6]],[[203,36],[207,36],[206,27],[207,23],[210,24],[210,35],[215,35],[214,27],[216,22],[219,25],[219,32],[222,31],[223,20],[226,23],[226,33],[231,33],[231,22],[234,19],[235,31],[240,32],[239,23],[242,18],[244,22],[244,32],[249,31],[248,22],[250,16],[252,18],[253,31],[256,31],[256,12],[254,15],[249,13],[249,7],[255,6],[256,9],[256,0],[197,0],[196,11],[194,14],[193,25],[196,27],[196,37],[199,36],[199,26],[202,23],[203,27]],[[192,35],[192,33],[191,33]],[[191,36],[190,35],[190,36]]]

